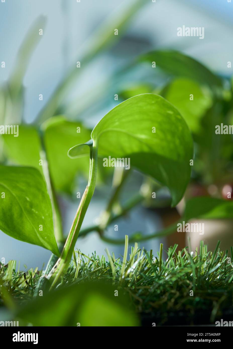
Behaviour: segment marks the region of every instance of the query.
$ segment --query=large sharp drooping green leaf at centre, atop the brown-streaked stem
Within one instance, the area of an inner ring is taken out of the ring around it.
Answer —
[[[91,138],[102,156],[127,158],[130,166],[167,186],[173,206],[181,200],[193,141],[185,120],[164,98],[143,94],[127,99],[98,122]]]

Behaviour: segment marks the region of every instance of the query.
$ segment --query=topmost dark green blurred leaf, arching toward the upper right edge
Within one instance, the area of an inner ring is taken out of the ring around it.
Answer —
[[[187,77],[210,88],[222,87],[221,80],[208,68],[195,59],[178,51],[152,51],[143,54],[138,59],[140,62],[156,62],[156,67],[163,69],[166,73]],[[156,68],[153,68],[155,70]]]

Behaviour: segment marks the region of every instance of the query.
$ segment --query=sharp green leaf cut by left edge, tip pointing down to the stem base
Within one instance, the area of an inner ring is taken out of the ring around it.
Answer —
[[[0,229],[15,239],[60,255],[50,197],[37,169],[0,166]]]

